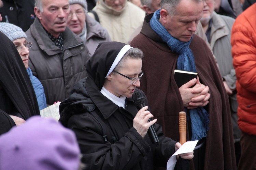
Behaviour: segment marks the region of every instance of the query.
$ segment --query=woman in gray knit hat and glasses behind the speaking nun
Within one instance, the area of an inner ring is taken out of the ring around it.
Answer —
[[[99,43],[111,41],[105,28],[87,14],[86,0],[69,0],[68,27],[85,42],[92,56]]]

